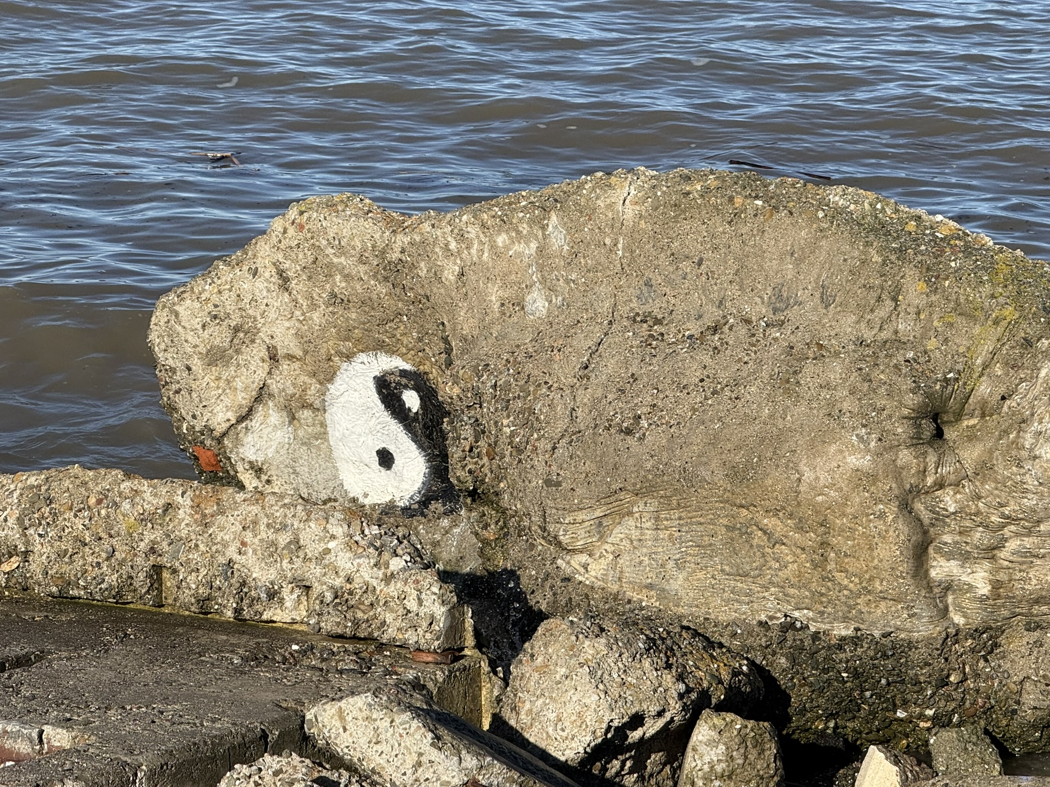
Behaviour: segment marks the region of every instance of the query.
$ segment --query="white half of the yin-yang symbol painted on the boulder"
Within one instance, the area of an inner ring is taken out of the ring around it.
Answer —
[[[376,378],[396,369],[414,370],[396,356],[362,353],[339,367],[324,397],[339,477],[346,492],[361,503],[410,505],[426,483],[426,460],[376,392]],[[419,410],[416,391],[405,390],[401,398],[410,410]],[[394,463],[387,469],[381,462],[388,464],[390,455]]]

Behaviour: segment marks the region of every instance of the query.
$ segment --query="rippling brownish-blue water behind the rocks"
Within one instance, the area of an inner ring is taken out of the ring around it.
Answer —
[[[311,194],[449,210],[732,158],[1048,257],[1048,29],[1046,2],[0,1],[0,470],[191,475],[149,310]]]

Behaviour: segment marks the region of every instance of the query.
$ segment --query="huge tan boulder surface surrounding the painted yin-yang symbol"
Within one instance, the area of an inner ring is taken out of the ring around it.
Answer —
[[[1050,611],[1046,278],[868,192],[637,170],[445,215],[306,200],[150,342],[209,477],[349,503],[324,400],[381,352],[441,396],[466,505],[576,576],[929,632]]]

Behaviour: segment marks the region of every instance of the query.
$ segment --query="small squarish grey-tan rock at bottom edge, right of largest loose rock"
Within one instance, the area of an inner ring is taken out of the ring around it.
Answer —
[[[678,787],[782,787],[780,743],[772,724],[705,710],[693,728]]]

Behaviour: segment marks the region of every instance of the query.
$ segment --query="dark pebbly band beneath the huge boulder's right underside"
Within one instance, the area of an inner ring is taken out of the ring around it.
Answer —
[[[783,735],[837,745],[925,748],[937,727],[984,726],[1014,752],[1050,744],[1050,626],[949,630],[938,635],[837,635],[800,620],[692,624],[752,659],[765,710]]]

